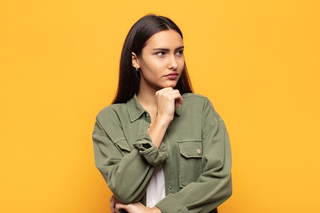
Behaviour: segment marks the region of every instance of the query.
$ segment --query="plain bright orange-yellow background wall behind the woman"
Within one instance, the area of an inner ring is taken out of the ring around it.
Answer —
[[[197,93],[223,117],[233,196],[220,213],[319,212],[318,1],[0,2],[0,212],[109,212],[95,116],[141,16],[184,33]]]

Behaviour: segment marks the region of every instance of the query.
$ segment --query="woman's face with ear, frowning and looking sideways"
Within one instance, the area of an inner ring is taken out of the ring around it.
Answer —
[[[132,65],[140,68],[140,90],[175,87],[185,67],[183,51],[181,36],[170,29],[151,36],[140,56],[132,53]]]

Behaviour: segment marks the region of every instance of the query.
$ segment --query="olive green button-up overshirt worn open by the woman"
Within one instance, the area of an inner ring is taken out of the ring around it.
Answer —
[[[232,194],[231,149],[223,120],[199,94],[182,94],[163,142],[148,134],[151,117],[134,96],[97,115],[93,132],[96,166],[122,202],[144,203],[155,167],[164,163],[164,213],[210,212]]]

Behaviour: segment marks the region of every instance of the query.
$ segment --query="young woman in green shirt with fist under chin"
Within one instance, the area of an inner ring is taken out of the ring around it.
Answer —
[[[142,17],[125,39],[116,98],[93,132],[112,213],[217,212],[232,194],[224,122],[193,93],[183,52],[163,16]]]

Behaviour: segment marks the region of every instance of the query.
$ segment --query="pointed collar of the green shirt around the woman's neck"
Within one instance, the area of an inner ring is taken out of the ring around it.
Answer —
[[[134,122],[135,120],[138,120],[143,113],[147,112],[139,103],[138,98],[136,98],[136,94],[127,101],[127,108],[128,108],[128,114],[130,117],[130,121]],[[174,113],[176,115],[180,115],[181,112],[181,105],[179,105],[178,108],[174,109]]]

